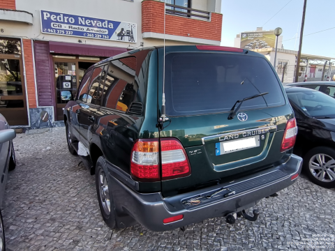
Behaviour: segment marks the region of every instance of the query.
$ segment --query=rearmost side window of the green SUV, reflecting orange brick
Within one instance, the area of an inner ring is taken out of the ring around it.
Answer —
[[[103,106],[127,112],[136,98],[138,85],[135,82],[136,58],[110,62],[105,82]]]

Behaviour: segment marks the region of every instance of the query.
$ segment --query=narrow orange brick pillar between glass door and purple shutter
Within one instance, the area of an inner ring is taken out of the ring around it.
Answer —
[[[36,89],[34,77],[33,51],[31,50],[31,40],[23,39],[24,67],[26,70],[27,96],[29,108],[36,108]]]

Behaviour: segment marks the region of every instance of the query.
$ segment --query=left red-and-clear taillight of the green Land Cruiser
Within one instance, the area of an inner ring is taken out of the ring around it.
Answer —
[[[141,181],[163,181],[191,174],[186,152],[178,139],[161,139],[162,174],[158,166],[158,140],[138,139],[131,154],[131,174]]]

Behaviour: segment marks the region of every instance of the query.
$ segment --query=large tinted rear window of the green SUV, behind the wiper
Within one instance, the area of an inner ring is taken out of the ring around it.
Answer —
[[[258,56],[172,52],[165,56],[165,67],[170,116],[229,112],[237,100],[265,92],[264,98],[244,101],[240,111],[285,104],[276,75],[267,59]]]

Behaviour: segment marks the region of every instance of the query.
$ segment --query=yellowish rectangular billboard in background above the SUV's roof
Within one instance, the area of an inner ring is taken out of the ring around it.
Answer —
[[[247,50],[274,48],[275,43],[276,35],[274,35],[274,31],[242,32],[239,47]]]

